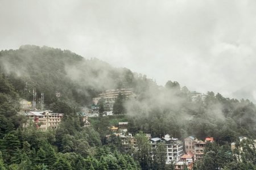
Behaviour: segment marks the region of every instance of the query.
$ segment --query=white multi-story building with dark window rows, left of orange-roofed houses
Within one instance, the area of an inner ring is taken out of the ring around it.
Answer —
[[[165,142],[166,144],[166,164],[172,162],[178,162],[180,156],[183,154],[183,142],[177,138],[170,138],[170,135],[164,135],[164,138],[151,138],[150,143],[152,148],[157,147],[159,142]]]

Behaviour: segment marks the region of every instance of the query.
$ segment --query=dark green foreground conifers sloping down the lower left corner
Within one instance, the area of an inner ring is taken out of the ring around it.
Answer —
[[[65,103],[57,103],[65,116],[57,130],[23,129],[19,96],[0,75],[0,169],[140,169],[130,155],[102,146],[93,128],[82,128],[82,117]]]

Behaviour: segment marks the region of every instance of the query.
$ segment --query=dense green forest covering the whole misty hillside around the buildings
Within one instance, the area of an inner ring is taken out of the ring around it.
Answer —
[[[232,156],[221,162],[220,157],[222,152],[230,152],[229,144],[239,136],[256,138],[256,108],[249,100],[208,92],[204,99],[192,101],[192,92],[178,82],[170,80],[165,87],[158,86],[129,69],[114,68],[96,58],[86,59],[47,46],[24,45],[17,50],[2,50],[0,71],[1,169],[172,169],[151,159],[143,133],[152,137],[170,134],[180,139],[190,135],[199,139],[214,137],[216,143],[208,146],[209,152],[199,169],[207,165],[215,169],[217,164],[222,168],[255,168],[254,159],[247,162],[250,155],[243,155],[243,164]],[[38,100],[44,93],[46,109],[65,114],[57,130],[38,131],[32,125],[23,129],[26,117],[17,114],[19,100],[31,101],[33,88]],[[82,128],[79,107],[89,107],[92,97],[111,88],[133,88],[139,99],[119,96],[114,116],[91,118],[92,126]],[[60,98],[56,98],[56,92],[61,93]],[[117,126],[119,121],[129,122],[128,130],[141,142],[144,152],[125,153],[118,138],[106,140],[108,127]]]

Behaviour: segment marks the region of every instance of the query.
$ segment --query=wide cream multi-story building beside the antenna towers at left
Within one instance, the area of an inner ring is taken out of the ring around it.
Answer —
[[[24,128],[35,125],[40,130],[56,129],[63,118],[62,113],[52,113],[52,111],[28,112],[25,115],[28,120]]]

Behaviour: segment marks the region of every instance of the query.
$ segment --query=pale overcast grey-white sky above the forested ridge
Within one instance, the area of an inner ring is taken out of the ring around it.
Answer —
[[[68,49],[256,103],[256,1],[0,0],[0,50]]]

